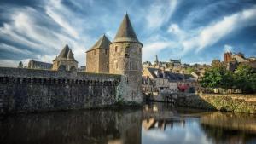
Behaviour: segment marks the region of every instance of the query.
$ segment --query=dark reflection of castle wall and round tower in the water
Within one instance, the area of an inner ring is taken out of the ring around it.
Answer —
[[[3,119],[0,143],[140,143],[140,128],[141,111],[29,114]]]

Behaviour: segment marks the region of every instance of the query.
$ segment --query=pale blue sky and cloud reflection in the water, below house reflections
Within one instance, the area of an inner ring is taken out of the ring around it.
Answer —
[[[186,118],[184,127],[174,123],[173,127],[166,124],[166,130],[142,128],[142,144],[210,144],[205,133],[201,130],[199,118]]]

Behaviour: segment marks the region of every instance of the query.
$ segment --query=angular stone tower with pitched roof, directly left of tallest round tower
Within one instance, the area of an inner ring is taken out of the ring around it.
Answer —
[[[105,34],[86,51],[86,72],[109,72],[109,44]]]

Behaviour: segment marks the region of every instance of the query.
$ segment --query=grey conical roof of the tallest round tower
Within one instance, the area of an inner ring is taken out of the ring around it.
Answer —
[[[125,18],[122,21],[121,26],[119,26],[119,30],[113,39],[113,43],[124,41],[140,43],[137,39],[136,33],[131,26],[131,21],[128,14],[125,14]]]

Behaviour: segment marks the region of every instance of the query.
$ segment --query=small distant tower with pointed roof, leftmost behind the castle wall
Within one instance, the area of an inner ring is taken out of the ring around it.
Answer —
[[[60,55],[53,60],[52,70],[58,70],[60,66],[65,66],[67,71],[78,68],[78,61],[74,59],[73,52],[67,44],[61,50]]]

